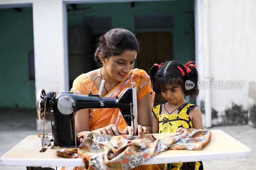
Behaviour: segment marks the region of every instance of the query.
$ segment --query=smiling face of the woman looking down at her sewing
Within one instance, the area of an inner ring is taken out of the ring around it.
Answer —
[[[132,70],[136,57],[137,52],[135,50],[125,50],[121,55],[110,56],[108,59],[104,58],[104,67],[111,78],[123,81]]]

